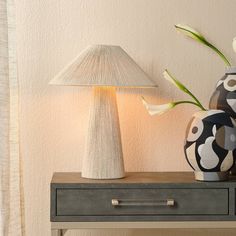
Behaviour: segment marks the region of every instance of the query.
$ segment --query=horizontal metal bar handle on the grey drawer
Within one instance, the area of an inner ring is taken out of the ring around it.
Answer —
[[[136,200],[136,199],[112,199],[112,206],[174,206],[174,199],[166,200]]]

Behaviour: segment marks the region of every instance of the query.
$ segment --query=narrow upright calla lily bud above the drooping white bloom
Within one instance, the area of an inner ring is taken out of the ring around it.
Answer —
[[[200,103],[200,101],[190,92],[189,89],[187,89],[180,81],[178,81],[177,79],[175,79],[169,72],[168,70],[165,70],[163,72],[163,76],[166,80],[170,81],[172,84],[174,84],[177,88],[179,88],[180,90],[182,90],[183,92],[187,93],[190,97],[193,98],[193,100],[195,101],[195,105],[197,105],[198,107],[200,107],[202,110],[206,110],[203,105]],[[184,101],[186,103],[186,101]],[[189,103],[189,102],[188,102]]]

